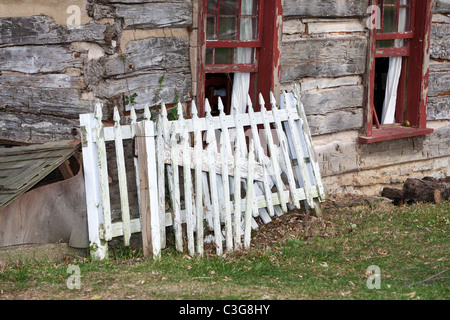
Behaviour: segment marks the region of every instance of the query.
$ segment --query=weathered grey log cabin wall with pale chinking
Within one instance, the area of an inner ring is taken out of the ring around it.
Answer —
[[[79,139],[78,116],[96,99],[105,120],[114,105],[126,115],[124,96],[134,93],[138,106],[158,96],[187,105],[197,88],[199,1],[0,0],[0,140]],[[408,177],[450,175],[449,1],[437,0],[433,11],[427,125],[434,133],[365,145],[358,136],[368,5],[283,2],[281,88],[300,86],[330,195],[379,195]]]

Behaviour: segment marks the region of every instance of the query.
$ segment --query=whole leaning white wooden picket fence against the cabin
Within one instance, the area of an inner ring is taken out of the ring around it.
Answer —
[[[142,233],[146,256],[159,256],[166,245],[166,227],[172,226],[175,247],[189,255],[203,254],[205,238],[213,239],[218,255],[248,248],[257,220],[269,223],[288,208],[314,208],[325,199],[320,171],[300,94],[281,96],[280,107],[271,95],[267,110],[260,95],[260,112],[250,98],[248,113],[225,115],[219,99],[219,116],[199,118],[192,102],[192,117],[169,121],[166,108],[157,121],[137,121],[131,109],[130,124],[102,124],[102,106],[80,116],[83,167],[91,253],[103,259],[114,237],[128,246],[132,233]],[[134,160],[139,218],[130,218],[123,141],[135,139]],[[247,141],[248,140],[248,141]],[[105,144],[115,143],[121,221],[111,222],[108,158]],[[168,191],[168,194],[166,194]],[[245,196],[244,196],[245,195]],[[168,207],[168,209],[167,209]],[[209,235],[207,235],[209,234]],[[243,240],[243,241],[242,241]]]

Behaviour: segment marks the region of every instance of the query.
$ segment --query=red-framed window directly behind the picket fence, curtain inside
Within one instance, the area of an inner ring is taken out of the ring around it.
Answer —
[[[202,0],[200,8],[199,74],[197,104],[204,114],[208,98],[213,115],[218,98],[230,113],[236,74],[247,74],[246,86],[254,99],[256,92],[274,90],[278,80],[276,16],[281,0]],[[264,24],[263,24],[264,21]],[[239,82],[241,85],[241,82]]]

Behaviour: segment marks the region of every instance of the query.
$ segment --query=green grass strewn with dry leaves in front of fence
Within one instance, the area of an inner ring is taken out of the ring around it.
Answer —
[[[316,236],[297,234],[225,258],[166,249],[158,261],[120,248],[107,261],[0,264],[0,299],[450,298],[450,204],[324,206]],[[69,290],[69,265],[80,268]],[[380,288],[369,266],[380,270]],[[427,280],[428,279],[428,280]],[[426,281],[424,281],[426,280]]]

